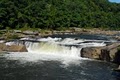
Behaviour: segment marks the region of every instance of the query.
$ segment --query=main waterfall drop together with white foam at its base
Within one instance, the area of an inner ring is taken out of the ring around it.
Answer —
[[[81,48],[65,47],[52,42],[26,43],[28,52],[6,54],[7,59],[19,60],[21,62],[36,61],[60,61],[62,64],[80,63]]]

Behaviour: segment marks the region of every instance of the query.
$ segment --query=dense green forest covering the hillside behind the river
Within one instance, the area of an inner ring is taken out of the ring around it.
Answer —
[[[120,27],[120,4],[108,0],[0,0],[0,29]]]

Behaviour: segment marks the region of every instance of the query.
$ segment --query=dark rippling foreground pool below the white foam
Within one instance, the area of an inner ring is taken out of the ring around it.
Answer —
[[[30,61],[10,55],[0,56],[0,80],[119,80],[111,70],[115,65],[106,62],[80,59],[63,64],[63,60]]]

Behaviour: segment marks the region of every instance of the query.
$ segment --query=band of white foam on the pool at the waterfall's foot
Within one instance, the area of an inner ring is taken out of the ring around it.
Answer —
[[[61,55],[61,54],[49,54],[49,53],[10,53],[6,54],[5,57],[9,60],[19,60],[21,63],[26,62],[42,62],[42,61],[59,61],[62,64],[68,66],[69,64],[79,64],[82,58]]]

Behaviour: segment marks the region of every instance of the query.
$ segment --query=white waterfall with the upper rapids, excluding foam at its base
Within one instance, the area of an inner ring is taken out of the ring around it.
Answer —
[[[20,39],[16,41],[7,42],[6,45],[25,45],[29,53],[37,54],[53,54],[80,57],[81,48],[83,47],[99,47],[105,46],[103,41],[100,43],[75,38],[40,38],[40,39]]]

